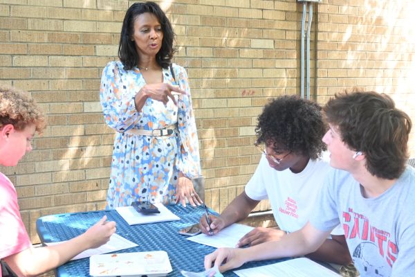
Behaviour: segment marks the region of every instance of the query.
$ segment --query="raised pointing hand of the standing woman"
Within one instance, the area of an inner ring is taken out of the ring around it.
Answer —
[[[186,92],[180,89],[178,86],[167,83],[158,84],[145,84],[138,93],[142,93],[146,98],[151,98],[160,102],[164,105],[169,102],[169,98],[173,100],[174,105],[177,105],[176,99],[173,94],[185,94]]]

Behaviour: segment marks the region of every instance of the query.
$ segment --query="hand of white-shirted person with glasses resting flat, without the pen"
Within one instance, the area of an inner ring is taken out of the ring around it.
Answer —
[[[250,245],[251,247],[263,242],[270,242],[272,240],[281,240],[286,233],[279,229],[257,227],[246,233],[235,247],[243,247],[244,245]]]

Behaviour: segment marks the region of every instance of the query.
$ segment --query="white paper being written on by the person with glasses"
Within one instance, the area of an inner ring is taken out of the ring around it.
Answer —
[[[192,240],[192,242],[209,245],[210,247],[215,248],[235,247],[243,235],[252,231],[252,229],[254,229],[254,227],[234,223],[214,235],[205,235],[204,233],[201,233],[200,235],[194,235],[192,238],[187,238],[187,240]]]

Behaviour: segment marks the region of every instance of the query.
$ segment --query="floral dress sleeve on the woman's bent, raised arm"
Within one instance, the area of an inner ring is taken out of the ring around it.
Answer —
[[[102,71],[100,102],[109,127],[124,132],[138,122],[141,113],[136,110],[134,97],[138,88],[129,86],[127,74],[117,62],[109,62]]]

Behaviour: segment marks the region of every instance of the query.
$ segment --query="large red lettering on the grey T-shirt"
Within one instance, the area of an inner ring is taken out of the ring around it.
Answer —
[[[394,264],[396,256],[398,256],[398,246],[391,241],[390,233],[370,226],[367,217],[353,212],[353,208],[349,208],[349,211],[344,211],[343,218],[343,229],[346,239],[360,239],[373,242],[378,247],[380,256],[385,258],[390,266]]]

